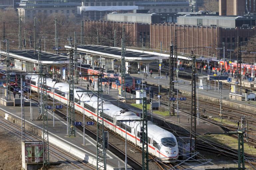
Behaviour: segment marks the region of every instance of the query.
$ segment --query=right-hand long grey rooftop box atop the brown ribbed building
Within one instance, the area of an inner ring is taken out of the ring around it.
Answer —
[[[249,16],[239,17],[216,17],[216,16],[180,16],[177,19],[178,25],[204,26],[204,27],[252,27],[255,26],[255,18]]]

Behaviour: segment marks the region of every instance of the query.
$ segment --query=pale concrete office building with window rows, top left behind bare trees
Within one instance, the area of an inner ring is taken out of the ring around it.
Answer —
[[[36,15],[63,14],[67,17],[71,14],[77,15],[77,7],[81,6],[81,0],[21,0],[18,14],[27,19]]]

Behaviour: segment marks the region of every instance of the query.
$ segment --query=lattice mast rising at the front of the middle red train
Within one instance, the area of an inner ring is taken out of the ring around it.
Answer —
[[[125,87],[125,74],[126,74],[126,68],[125,68],[125,26],[123,26],[123,37],[122,37],[122,51],[121,51],[121,97],[126,98],[126,87]],[[123,89],[125,87],[125,89]],[[124,91],[125,90],[125,91]]]

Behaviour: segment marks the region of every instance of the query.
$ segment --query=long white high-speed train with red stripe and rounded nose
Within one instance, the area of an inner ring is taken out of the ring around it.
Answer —
[[[38,75],[29,75],[26,76],[26,84],[30,85],[31,80],[31,90],[37,92],[38,86]],[[69,85],[66,83],[56,83],[54,80],[47,78],[47,94],[53,98],[53,89],[49,90],[50,87],[55,89],[54,98],[63,104],[67,104],[68,96],[65,92],[69,92]],[[84,113],[87,117],[93,118],[97,121],[97,95],[91,95],[91,97],[87,94],[87,92],[76,92],[82,89],[74,89],[75,99],[77,101],[83,102],[75,102],[75,109],[80,113]],[[90,92],[89,92],[90,93]],[[122,108],[115,106],[109,101],[104,101],[103,104],[104,109],[104,125],[107,129],[119,134],[123,138],[125,138],[125,125],[127,126],[127,140],[134,143],[137,146],[141,147],[140,143],[140,127],[141,124],[139,121],[127,121],[127,122],[119,122],[118,120],[139,120],[134,112],[123,110]],[[148,121],[148,152],[160,158],[163,161],[169,161],[178,158],[178,143],[175,136],[152,124],[152,122]]]

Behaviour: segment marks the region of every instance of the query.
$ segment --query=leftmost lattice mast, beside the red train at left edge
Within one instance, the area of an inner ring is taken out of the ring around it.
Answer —
[[[9,39],[6,41],[6,100],[11,100]]]

